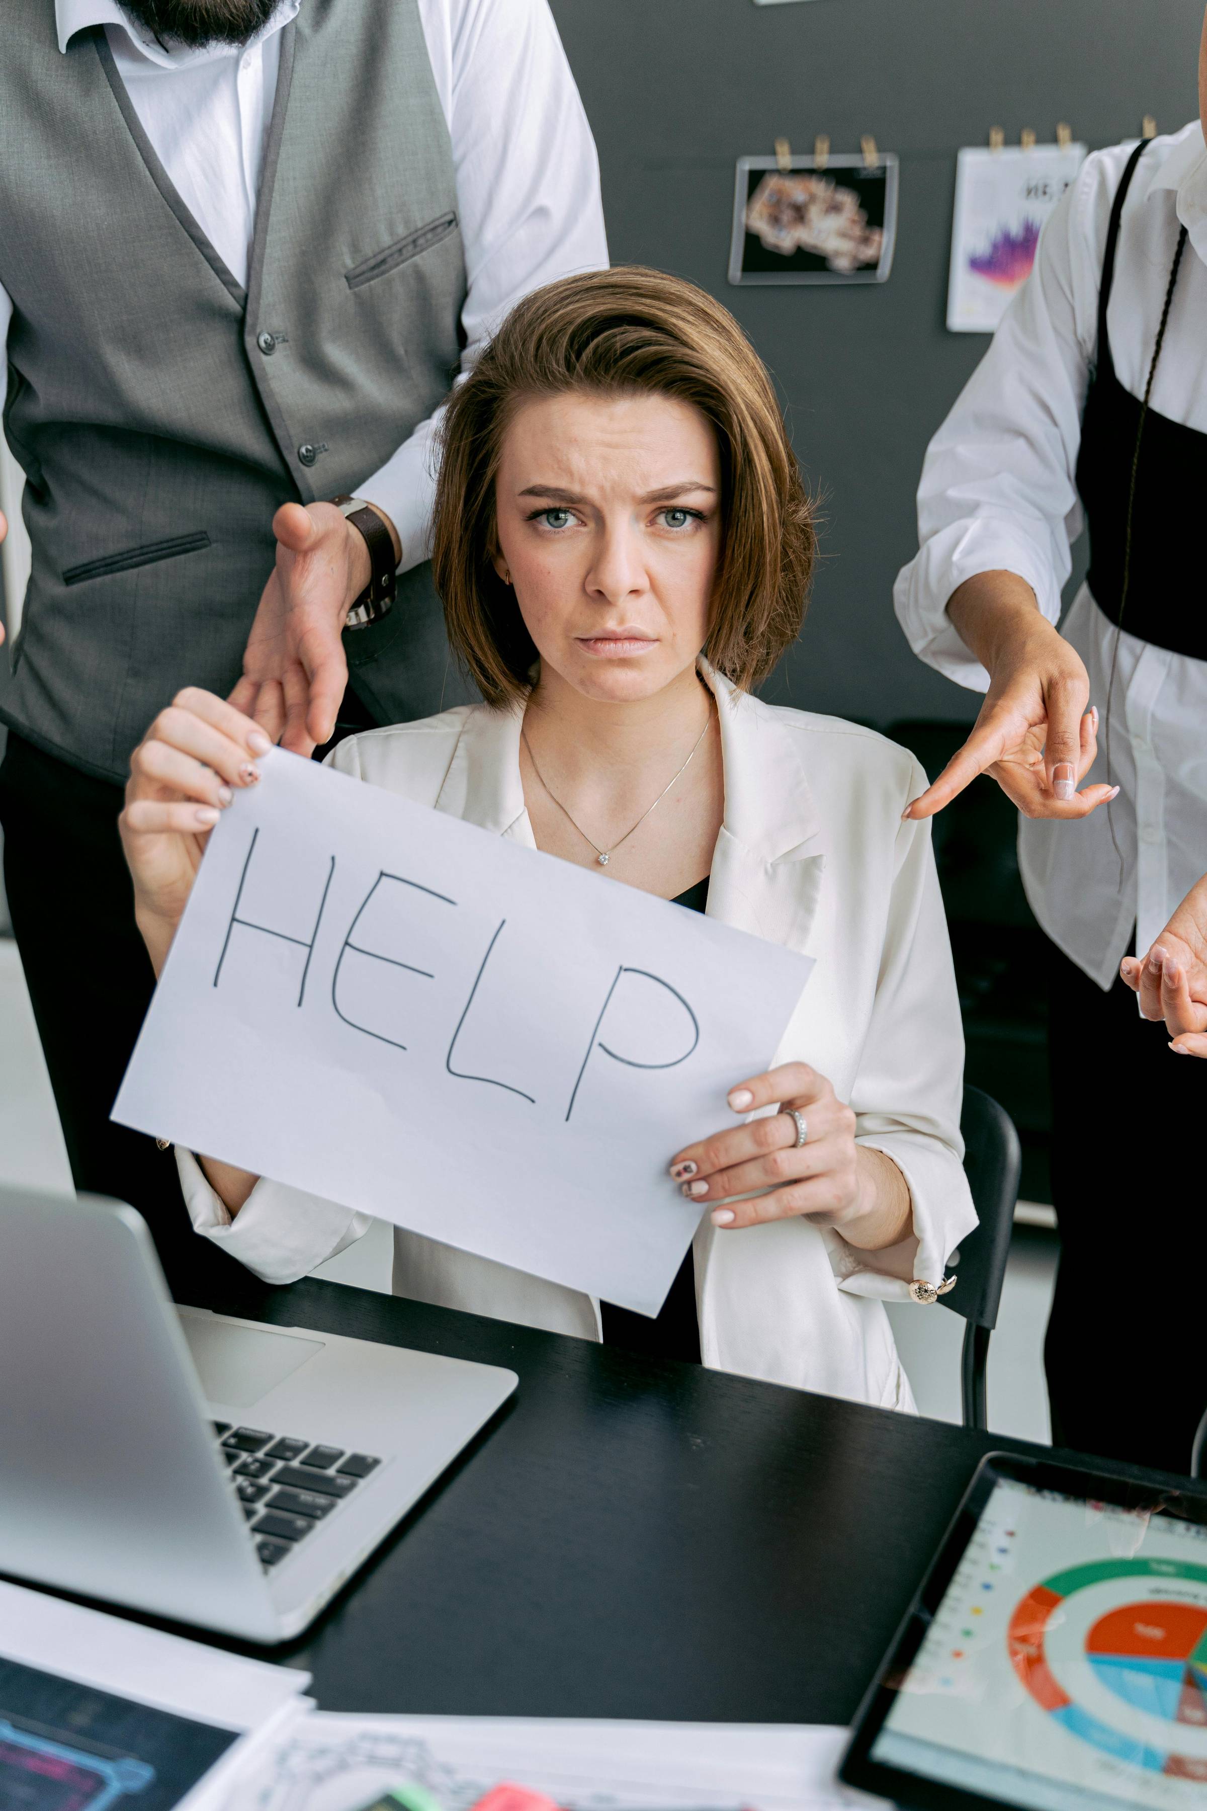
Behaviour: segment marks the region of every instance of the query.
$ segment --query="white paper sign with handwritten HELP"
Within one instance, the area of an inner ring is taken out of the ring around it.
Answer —
[[[794,951],[273,752],[210,838],[114,1119],[657,1313]]]

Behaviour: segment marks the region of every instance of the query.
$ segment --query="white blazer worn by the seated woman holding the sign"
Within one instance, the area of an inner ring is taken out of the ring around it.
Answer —
[[[829,1076],[856,1112],[858,1141],[901,1168],[919,1241],[914,1275],[939,1282],[975,1213],[961,1166],[965,1045],[930,824],[901,820],[925,775],[870,730],[773,708],[702,672],[717,695],[726,782],[708,913],[816,960],[769,1058]],[[519,779],[521,717],[519,708],[467,704],[351,737],[329,759],[536,848]],[[666,1135],[670,1159],[675,1128]],[[177,1163],[195,1230],[268,1282],[293,1282],[371,1224],[270,1181],[232,1222],[195,1159],[177,1152]],[[883,1306],[908,1300],[908,1284],[879,1271],[874,1251],[803,1219],[718,1231],[708,1215],[693,1251],[706,1365],[914,1407]],[[402,1230],[394,1295],[599,1338],[590,1297]]]

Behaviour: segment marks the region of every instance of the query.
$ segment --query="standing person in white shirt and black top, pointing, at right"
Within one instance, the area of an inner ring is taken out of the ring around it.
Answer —
[[[986,692],[968,743],[914,815],[992,773],[1022,811],[1022,880],[1055,945],[1053,1438],[1171,1471],[1189,1465],[1202,1413],[1202,1083],[1171,1061],[1127,983],[1131,951],[1142,958],[1158,942],[1207,869],[1205,484],[1207,149],[1196,120],[1084,163],[930,444],[921,551],[896,585],[914,650]],[[1088,581],[1057,630],[1082,527]],[[1120,1137],[1140,1126],[1162,1126],[1160,1157],[1145,1145],[1144,1164],[1120,1164]],[[1174,1260],[1133,1286],[1124,1253],[1149,1192]]]

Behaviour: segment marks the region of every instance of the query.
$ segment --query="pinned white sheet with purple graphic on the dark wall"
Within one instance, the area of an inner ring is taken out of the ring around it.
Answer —
[[[1044,221],[1084,161],[1086,147],[1071,143],[959,152],[946,290],[952,333],[993,333],[1031,273]]]

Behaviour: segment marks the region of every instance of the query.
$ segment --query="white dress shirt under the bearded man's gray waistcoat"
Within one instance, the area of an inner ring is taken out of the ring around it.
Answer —
[[[159,161],[244,286],[280,31],[300,4],[282,0],[246,45],[186,49],[148,36],[118,0],[54,0],[60,51],[74,33],[105,27]],[[452,139],[469,286],[461,371],[469,371],[521,295],[608,263],[599,165],[546,0],[416,4]],[[400,168],[396,181],[405,179]],[[355,206],[353,196],[347,205]],[[0,340],[7,339],[11,315],[11,299],[0,288]],[[384,509],[398,529],[404,572],[431,551],[438,420],[440,411],[356,485],[356,494]]]

